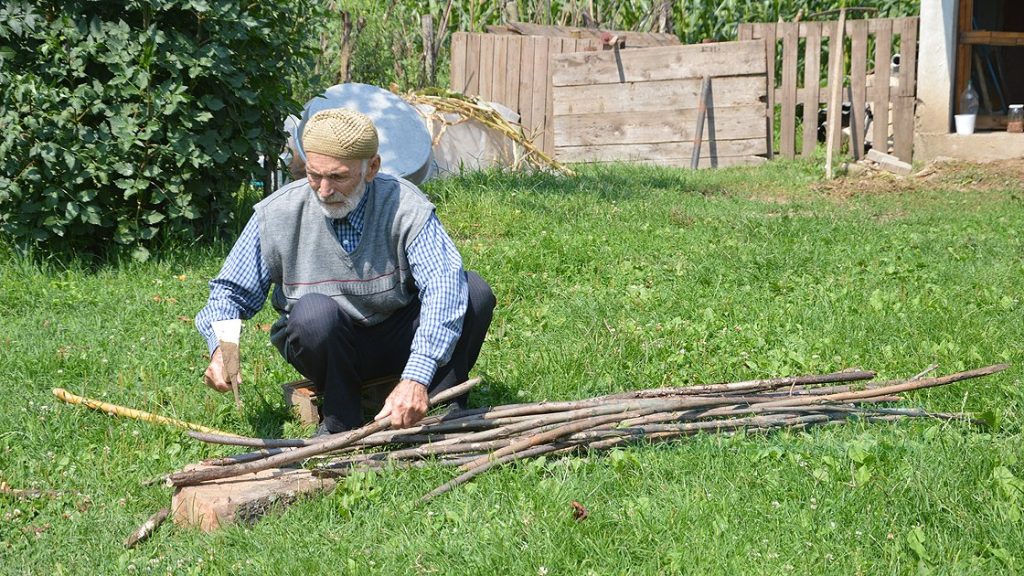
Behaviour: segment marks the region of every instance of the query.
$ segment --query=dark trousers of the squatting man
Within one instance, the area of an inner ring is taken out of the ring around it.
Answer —
[[[469,305],[462,335],[451,360],[437,368],[429,382],[431,395],[469,379],[490,326],[495,310],[490,286],[474,272],[466,275]],[[285,359],[315,384],[324,399],[321,419],[331,430],[355,428],[362,424],[362,382],[401,372],[419,325],[419,299],[380,324],[359,326],[330,296],[307,294],[289,315]],[[457,402],[465,406],[466,398]]]

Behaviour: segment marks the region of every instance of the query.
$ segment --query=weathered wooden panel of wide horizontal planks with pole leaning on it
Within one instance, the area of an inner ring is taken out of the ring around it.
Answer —
[[[764,162],[765,66],[757,41],[554,55],[555,157],[689,167],[709,76],[698,166]]]

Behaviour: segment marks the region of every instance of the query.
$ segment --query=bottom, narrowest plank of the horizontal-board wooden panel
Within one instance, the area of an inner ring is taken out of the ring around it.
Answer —
[[[768,151],[764,138],[717,140],[719,157],[758,156]],[[657,143],[609,143],[599,146],[569,146],[555,148],[555,156],[562,162],[629,162],[634,160],[660,161],[690,158],[693,142],[675,141]],[[701,157],[707,158],[705,147]]]

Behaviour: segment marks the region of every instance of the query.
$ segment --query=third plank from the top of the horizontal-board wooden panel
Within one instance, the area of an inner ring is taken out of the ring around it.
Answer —
[[[555,146],[651,143],[693,139],[696,109],[618,114],[560,116],[554,129]],[[763,106],[715,107],[715,139],[763,137]]]

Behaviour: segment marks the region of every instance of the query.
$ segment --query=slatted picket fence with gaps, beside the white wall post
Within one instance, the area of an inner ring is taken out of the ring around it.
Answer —
[[[768,72],[769,118],[779,108],[778,153],[785,158],[814,154],[818,134],[818,111],[829,101],[829,71],[837,66],[838,51],[829,40],[838,32],[838,22],[778,24],[741,24],[740,40],[763,40]],[[865,118],[868,102],[873,114],[871,142],[880,152],[892,152],[910,162],[913,150],[913,109],[916,89],[918,18],[879,18],[847,20],[843,67],[843,99],[851,104],[850,150],[855,158],[864,154]],[[868,47],[873,44],[873,72],[868,73]],[[900,65],[896,76],[890,61],[899,48]],[[822,54],[827,48],[828,66],[822,70]],[[803,58],[800,56],[803,55]],[[801,64],[803,70],[800,69]],[[781,75],[776,74],[776,68]],[[840,106],[841,102],[837,102]],[[803,108],[803,130],[797,145],[798,107]],[[891,127],[891,128],[890,128]],[[774,127],[769,125],[769,140],[774,141]],[[890,133],[892,150],[888,142]],[[834,134],[839,150],[840,133]],[[769,153],[770,155],[770,153]]]

